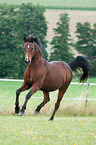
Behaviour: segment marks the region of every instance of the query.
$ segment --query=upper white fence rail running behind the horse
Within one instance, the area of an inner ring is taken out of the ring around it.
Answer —
[[[17,80],[17,79],[0,79],[0,81],[10,81],[10,82],[23,82],[24,80]],[[71,82],[72,85],[87,85],[87,83],[77,83]],[[90,86],[96,86],[96,83],[89,83]]]

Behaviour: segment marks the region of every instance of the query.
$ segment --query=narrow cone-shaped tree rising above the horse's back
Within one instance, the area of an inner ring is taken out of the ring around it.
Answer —
[[[70,53],[69,48],[69,17],[67,13],[60,14],[59,22],[57,22],[57,28],[53,29],[55,37],[51,41],[52,50],[50,60],[62,60],[69,62],[73,58],[73,54]]]

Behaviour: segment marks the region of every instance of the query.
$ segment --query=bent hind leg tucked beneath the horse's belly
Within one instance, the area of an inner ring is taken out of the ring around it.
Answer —
[[[41,110],[41,108],[47,103],[50,101],[50,98],[49,98],[49,92],[45,92],[43,91],[43,94],[44,94],[44,100],[41,104],[39,104],[35,110],[35,112],[33,113],[33,115],[36,115],[36,114],[39,114],[39,111]]]

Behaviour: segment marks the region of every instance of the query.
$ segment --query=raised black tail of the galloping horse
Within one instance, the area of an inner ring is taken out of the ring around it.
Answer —
[[[83,70],[83,74],[80,77],[80,82],[84,82],[89,75],[89,62],[85,59],[83,56],[77,56],[72,62],[68,63],[69,66],[73,71],[77,71],[77,69],[80,70],[80,68]]]

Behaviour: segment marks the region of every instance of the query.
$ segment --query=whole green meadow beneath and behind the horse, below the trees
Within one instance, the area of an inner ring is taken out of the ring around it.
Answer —
[[[73,79],[76,81],[77,79]],[[96,79],[90,79],[96,83]],[[50,94],[51,101],[37,116],[32,116],[42,101],[38,91],[28,102],[25,116],[14,114],[15,91],[22,82],[0,81],[0,144],[2,145],[95,145],[96,102],[88,100],[62,100],[54,121],[48,121],[56,102],[57,91]],[[96,87],[90,86],[88,98],[95,98]],[[20,105],[28,91],[21,93]],[[65,98],[85,98],[86,85],[70,85]],[[37,97],[37,98],[35,98]]]

